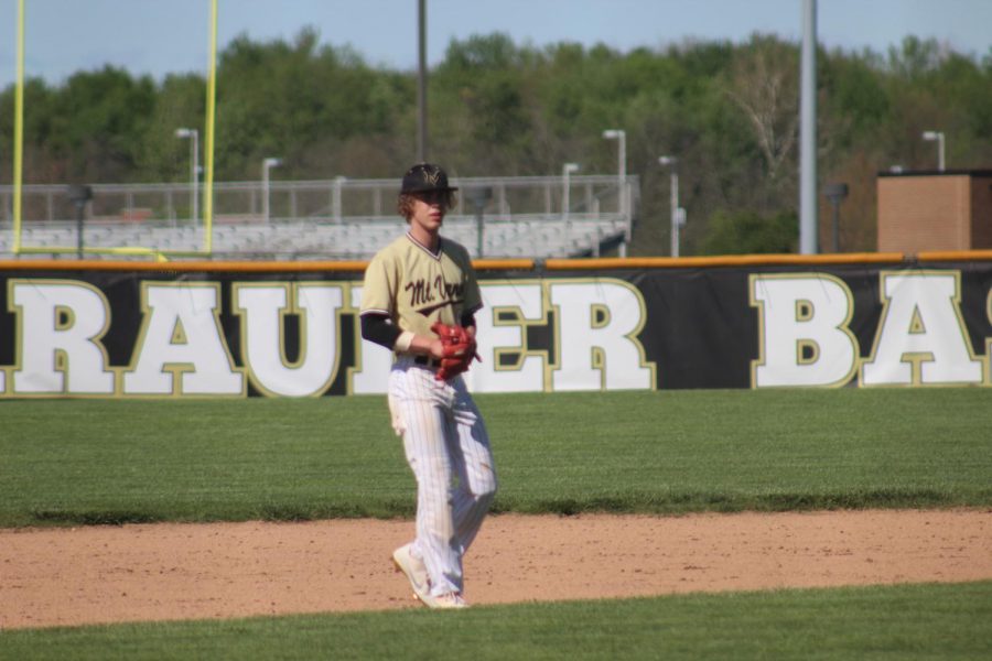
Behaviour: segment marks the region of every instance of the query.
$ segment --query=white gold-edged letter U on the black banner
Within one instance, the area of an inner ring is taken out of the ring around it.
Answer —
[[[344,285],[235,283],[231,312],[241,318],[241,354],[251,383],[270,395],[313,397],[337,375]],[[300,317],[300,355],[285,357],[285,315]]]

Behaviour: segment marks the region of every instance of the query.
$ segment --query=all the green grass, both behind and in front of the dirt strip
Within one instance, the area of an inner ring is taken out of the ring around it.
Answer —
[[[992,505],[990,389],[476,399],[499,511]],[[412,514],[381,397],[2,401],[0,420],[2,527]],[[783,590],[6,631],[0,658],[985,659],[990,616],[992,583]]]

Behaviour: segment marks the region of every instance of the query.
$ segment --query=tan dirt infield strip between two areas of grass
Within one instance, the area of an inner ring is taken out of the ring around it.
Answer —
[[[417,607],[409,521],[0,530],[0,628]],[[992,512],[490,517],[474,604],[992,578]]]

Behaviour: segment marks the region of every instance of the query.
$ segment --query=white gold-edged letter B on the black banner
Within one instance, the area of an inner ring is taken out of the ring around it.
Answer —
[[[751,275],[758,310],[758,358],[753,388],[843,386],[858,369],[858,338],[848,328],[853,295],[824,273]]]

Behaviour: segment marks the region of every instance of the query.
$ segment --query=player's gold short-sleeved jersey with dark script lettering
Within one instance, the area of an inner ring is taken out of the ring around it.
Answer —
[[[482,306],[468,251],[445,238],[435,254],[407,234],[365,270],[360,314],[385,314],[400,330],[431,336],[434,322],[459,324]]]

